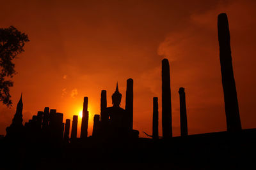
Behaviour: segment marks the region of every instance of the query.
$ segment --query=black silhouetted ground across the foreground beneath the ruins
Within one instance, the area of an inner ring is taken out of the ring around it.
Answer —
[[[256,129],[170,140],[47,143],[3,138],[0,148],[1,169],[256,169]]]

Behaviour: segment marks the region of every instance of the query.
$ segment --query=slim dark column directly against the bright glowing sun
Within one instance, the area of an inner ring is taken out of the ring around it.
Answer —
[[[84,97],[84,106],[83,106],[83,117],[82,117],[82,124],[81,124],[81,137],[80,138],[87,138],[88,134],[88,118],[89,118],[89,111],[88,111],[88,97]]]

